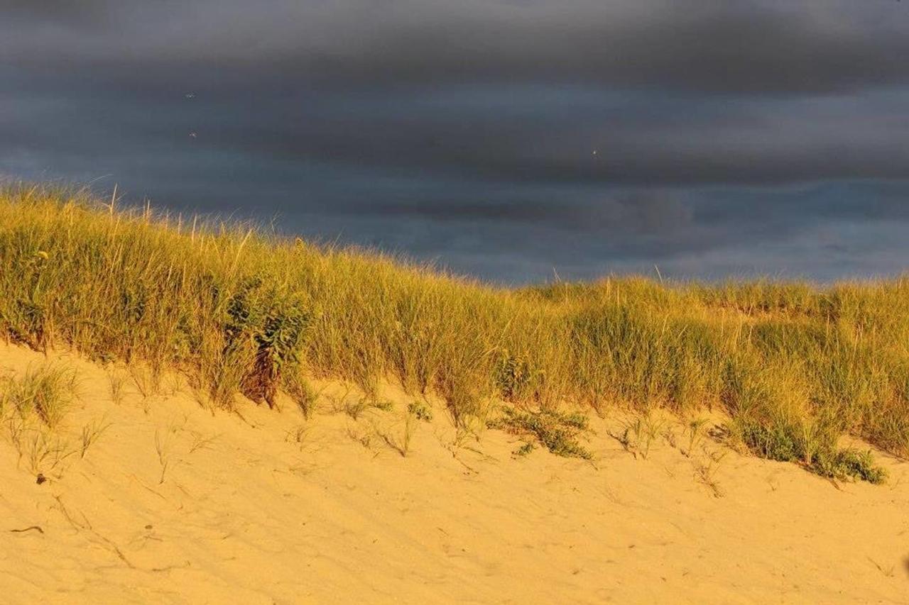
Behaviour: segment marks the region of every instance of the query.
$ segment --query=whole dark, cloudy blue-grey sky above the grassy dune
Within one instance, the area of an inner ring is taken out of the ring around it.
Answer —
[[[0,0],[0,176],[493,283],[909,268],[909,2]]]

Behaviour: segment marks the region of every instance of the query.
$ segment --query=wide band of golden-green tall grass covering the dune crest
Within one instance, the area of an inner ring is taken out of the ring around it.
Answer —
[[[391,377],[461,423],[495,399],[716,406],[771,457],[810,465],[844,434],[909,454],[906,278],[505,290],[47,187],[7,186],[0,225],[5,338],[179,368],[222,405],[305,392],[305,373]]]

